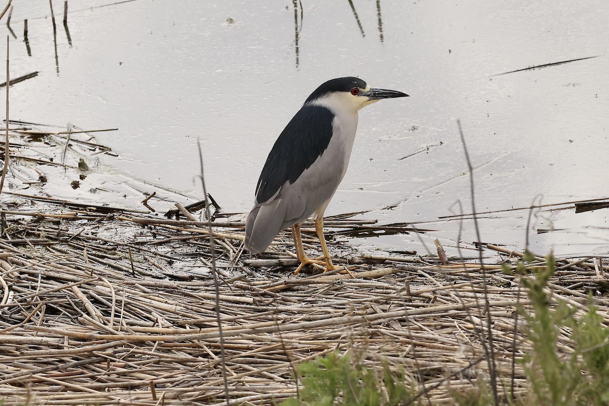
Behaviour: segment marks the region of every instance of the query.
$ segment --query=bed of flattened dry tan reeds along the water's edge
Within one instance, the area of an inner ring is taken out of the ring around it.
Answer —
[[[281,234],[263,256],[252,257],[242,250],[239,215],[214,217],[213,253],[205,221],[44,194],[50,178],[88,173],[91,169],[76,164],[82,156],[91,163],[91,156],[110,150],[90,135],[79,141],[77,131],[61,135],[21,125],[22,139],[35,138],[21,143],[13,138],[12,159],[31,142],[38,153],[21,153],[7,177],[16,186],[2,194],[0,400],[5,405],[224,405],[220,335],[230,404],[272,404],[296,396],[300,382],[294,369],[332,351],[359,351],[370,368],[386,362],[405,370],[406,379],[434,404],[450,404],[449,390],[487,379],[482,343],[489,327],[500,382],[513,377],[516,393],[527,390],[522,365],[513,366],[513,360],[531,348],[525,323],[515,325],[516,308],[529,302],[518,289],[518,276],[501,271],[501,263],[513,267],[523,253],[481,245],[487,257],[481,265],[446,257],[439,242],[437,255],[371,255],[329,239],[341,268],[294,276],[291,234]],[[34,184],[38,189],[30,187]],[[147,191],[143,204],[153,205],[152,186],[131,185]],[[155,199],[176,196],[160,192],[164,197]],[[328,219],[330,234],[411,231],[342,217]],[[314,230],[304,230],[306,247],[319,251],[307,237]],[[544,261],[536,257],[535,265]],[[212,262],[220,278],[218,301]],[[557,267],[549,285],[552,298],[583,312],[593,292],[609,322],[607,257],[560,259]],[[485,289],[490,326],[483,314]],[[559,343],[560,351],[572,351],[568,332]]]

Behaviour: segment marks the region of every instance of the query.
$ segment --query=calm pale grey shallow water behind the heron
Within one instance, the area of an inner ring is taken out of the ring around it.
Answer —
[[[354,0],[352,8],[348,0],[137,0],[93,7],[104,4],[69,4],[72,44],[59,23],[55,58],[48,2],[15,3],[12,76],[40,75],[12,86],[11,116],[118,127],[97,136],[121,155],[108,164],[202,197],[194,183],[200,139],[208,191],[224,211],[250,209],[276,136],[317,85],[346,75],[410,97],[361,111],[350,169],[326,214],[368,211],[359,217],[423,222],[435,230],[425,243],[440,237],[456,245],[460,223],[438,221],[459,212],[457,201],[471,212],[456,119],[476,168],[478,211],[609,195],[607,1]],[[54,5],[61,19],[63,2]],[[71,193],[66,187],[65,197]],[[540,253],[607,253],[608,212],[535,211],[530,244]],[[484,215],[481,239],[522,249],[527,215]],[[462,228],[463,240],[477,239],[471,221]],[[536,234],[552,228],[560,231]],[[416,236],[356,243],[424,252]]]

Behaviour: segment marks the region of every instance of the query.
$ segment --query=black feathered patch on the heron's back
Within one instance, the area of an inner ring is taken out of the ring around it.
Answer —
[[[328,148],[334,113],[328,108],[305,105],[286,125],[264,164],[256,186],[256,205],[273,198],[286,181],[298,177]]]

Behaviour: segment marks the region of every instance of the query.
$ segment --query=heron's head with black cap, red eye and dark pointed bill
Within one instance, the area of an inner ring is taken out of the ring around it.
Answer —
[[[328,80],[315,89],[306,99],[305,105],[317,104],[331,110],[346,109],[356,112],[381,99],[407,96],[406,93],[396,90],[373,89],[357,77],[340,77]]]

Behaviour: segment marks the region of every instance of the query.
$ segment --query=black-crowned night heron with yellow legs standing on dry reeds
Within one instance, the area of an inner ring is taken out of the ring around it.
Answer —
[[[292,227],[300,261],[294,273],[305,265],[323,264],[306,257],[300,236],[301,223],[314,214],[326,270],[336,269],[323,237],[323,212],[347,172],[357,111],[381,99],[406,96],[371,89],[356,77],[328,80],[315,89],[281,131],[264,164],[245,222],[245,248],[261,253],[281,230]]]

